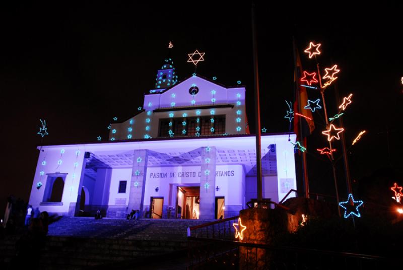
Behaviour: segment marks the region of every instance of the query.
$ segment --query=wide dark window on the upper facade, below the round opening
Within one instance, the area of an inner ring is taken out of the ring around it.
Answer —
[[[196,136],[197,132],[200,136],[224,134],[225,115],[161,119],[158,137]]]

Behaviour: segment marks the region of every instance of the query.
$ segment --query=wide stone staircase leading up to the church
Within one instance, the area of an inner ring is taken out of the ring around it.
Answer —
[[[129,269],[133,265],[141,268],[142,262],[147,262],[147,268],[153,269],[150,260],[157,263],[157,266],[169,265],[163,262],[173,257],[183,257],[182,262],[186,262],[187,227],[207,222],[210,220],[95,220],[62,217],[49,225],[46,245],[40,252],[40,268]],[[15,244],[19,238],[8,236],[0,240],[1,269],[7,269],[15,258]],[[180,269],[172,266],[172,269],[177,268]]]

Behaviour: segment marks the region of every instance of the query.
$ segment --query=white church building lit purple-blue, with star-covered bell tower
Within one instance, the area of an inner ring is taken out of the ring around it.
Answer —
[[[166,59],[138,113],[112,123],[108,142],[42,146],[29,204],[58,215],[232,217],[256,198],[255,137],[243,86],[193,74],[177,82]],[[295,134],[263,133],[263,198],[296,188]]]

